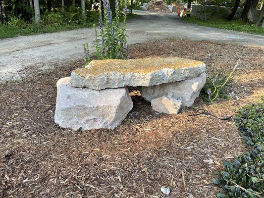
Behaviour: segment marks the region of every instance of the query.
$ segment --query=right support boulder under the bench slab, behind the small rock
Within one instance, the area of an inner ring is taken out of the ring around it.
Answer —
[[[194,100],[199,96],[200,91],[206,83],[206,73],[198,77],[179,82],[156,85],[152,87],[141,87],[142,97],[147,101],[167,96],[172,93],[174,98],[182,96],[186,106],[191,106]]]

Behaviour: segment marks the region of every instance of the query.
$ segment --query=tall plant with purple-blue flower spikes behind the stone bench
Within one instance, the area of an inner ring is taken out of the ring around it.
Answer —
[[[100,9],[99,14],[99,32],[94,25],[95,45],[97,56],[99,59],[127,59],[128,45],[126,40],[126,5],[124,9],[120,9],[120,0],[115,1],[115,16],[112,17],[109,0],[103,0],[104,16]],[[123,11],[123,20],[120,23]],[[90,62],[88,45],[84,44],[84,58]]]

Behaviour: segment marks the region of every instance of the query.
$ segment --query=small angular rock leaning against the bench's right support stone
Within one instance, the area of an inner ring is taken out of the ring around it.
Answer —
[[[162,96],[151,100],[151,106],[159,113],[177,114],[181,109],[181,102],[174,98]]]

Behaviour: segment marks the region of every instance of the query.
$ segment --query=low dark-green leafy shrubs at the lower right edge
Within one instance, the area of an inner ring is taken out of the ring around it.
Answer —
[[[235,116],[236,125],[244,143],[250,149],[224,162],[223,170],[215,172],[213,179],[225,193],[217,198],[262,198],[264,195],[264,97],[254,104],[239,109]],[[245,133],[246,132],[246,133]]]

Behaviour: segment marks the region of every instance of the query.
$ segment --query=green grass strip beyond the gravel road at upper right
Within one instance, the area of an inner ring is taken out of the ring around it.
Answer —
[[[195,23],[201,26],[264,35],[264,28],[257,27],[255,24],[249,24],[243,20],[229,21],[226,19],[217,18],[202,21],[200,19],[196,19],[195,17],[182,17],[182,20],[188,23]]]

